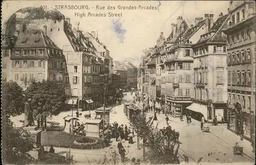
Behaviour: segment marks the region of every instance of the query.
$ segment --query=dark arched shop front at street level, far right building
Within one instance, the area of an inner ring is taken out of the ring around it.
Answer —
[[[227,129],[236,133],[243,134],[243,137],[251,141],[254,130],[253,113],[251,114],[248,109],[241,107],[240,103],[236,103],[234,106],[228,106],[228,125]]]

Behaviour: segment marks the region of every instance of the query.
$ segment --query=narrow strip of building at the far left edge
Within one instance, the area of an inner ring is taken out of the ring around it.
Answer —
[[[11,79],[11,50],[16,41],[14,36],[2,35],[2,81],[9,81]]]

